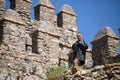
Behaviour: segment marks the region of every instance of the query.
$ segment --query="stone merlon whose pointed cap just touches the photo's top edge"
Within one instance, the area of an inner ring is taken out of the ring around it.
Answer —
[[[54,24],[54,6],[49,0],[40,0],[34,7],[35,19]]]

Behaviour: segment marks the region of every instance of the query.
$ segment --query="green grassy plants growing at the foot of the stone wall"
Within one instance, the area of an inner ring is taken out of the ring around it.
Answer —
[[[54,66],[51,67],[47,72],[47,79],[46,80],[63,80],[63,72],[68,69],[65,66]]]

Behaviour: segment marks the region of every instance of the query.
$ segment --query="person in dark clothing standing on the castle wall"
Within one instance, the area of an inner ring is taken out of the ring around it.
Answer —
[[[78,66],[85,64],[86,49],[88,45],[82,39],[82,34],[77,33],[77,41],[72,45],[72,50],[74,53],[74,63]]]

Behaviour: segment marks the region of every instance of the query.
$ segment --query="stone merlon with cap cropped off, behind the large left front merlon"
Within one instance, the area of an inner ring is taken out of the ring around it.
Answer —
[[[29,23],[31,20],[31,0],[10,0],[10,8],[20,14],[22,20],[26,23],[26,30],[29,30]]]

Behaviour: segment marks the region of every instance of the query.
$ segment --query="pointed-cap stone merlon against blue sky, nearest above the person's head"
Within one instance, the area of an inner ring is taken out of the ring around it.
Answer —
[[[62,9],[57,14],[57,24],[59,27],[66,29],[71,29],[76,26],[76,14],[71,6],[67,4],[63,5]]]

